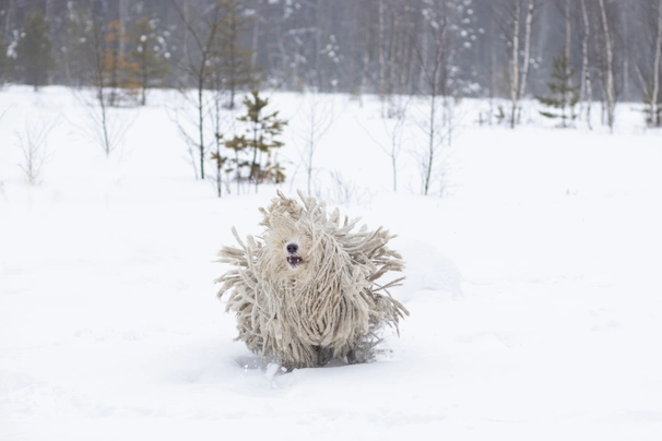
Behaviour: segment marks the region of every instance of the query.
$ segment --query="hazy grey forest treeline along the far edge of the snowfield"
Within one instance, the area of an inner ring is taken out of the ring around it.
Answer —
[[[617,100],[659,121],[661,45],[662,0],[0,0],[1,81],[105,81],[138,104],[259,84],[517,103],[565,59],[607,122]]]

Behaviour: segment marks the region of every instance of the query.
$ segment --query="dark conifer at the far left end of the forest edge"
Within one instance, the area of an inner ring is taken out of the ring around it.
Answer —
[[[48,84],[55,61],[48,38],[48,22],[42,12],[33,12],[27,16],[16,45],[15,65],[20,80],[35,90]]]

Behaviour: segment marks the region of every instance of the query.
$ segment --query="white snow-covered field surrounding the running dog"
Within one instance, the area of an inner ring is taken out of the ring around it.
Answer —
[[[399,235],[392,294],[411,311],[375,363],[282,374],[233,342],[212,283],[230,227],[259,234],[275,191],[217,199],[193,179],[179,98],[152,98],[122,110],[106,158],[69,91],[0,91],[1,440],[662,439],[662,133],[636,105],[610,134],[533,111],[478,126],[486,103],[465,100],[445,194],[426,198],[422,110],[393,192],[377,100],[273,94],[291,119],[281,189],[306,188],[321,100],[314,191]],[[19,134],[39,121],[54,128],[29,187]]]

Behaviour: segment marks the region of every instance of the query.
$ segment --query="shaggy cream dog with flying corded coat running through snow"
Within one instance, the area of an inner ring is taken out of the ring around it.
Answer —
[[[232,269],[216,282],[229,294],[226,311],[237,317],[237,339],[286,369],[319,367],[331,359],[371,361],[385,325],[398,332],[407,310],[388,293],[404,277],[399,253],[387,247],[385,229],[353,231],[358,219],[341,223],[338,210],[299,192],[303,205],[279,191],[260,208],[267,228],[240,248],[224,247],[220,262]]]

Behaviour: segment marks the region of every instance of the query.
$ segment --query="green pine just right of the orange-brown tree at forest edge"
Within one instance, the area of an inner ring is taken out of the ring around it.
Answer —
[[[135,23],[130,39],[134,46],[130,60],[138,67],[140,103],[144,106],[147,88],[164,85],[169,70],[169,55],[165,50],[163,38],[157,34],[156,21],[149,16],[143,16]]]

